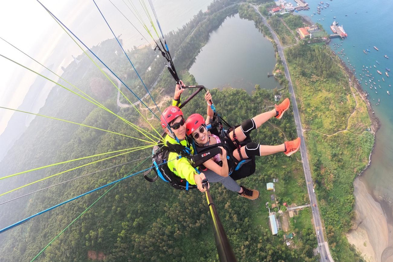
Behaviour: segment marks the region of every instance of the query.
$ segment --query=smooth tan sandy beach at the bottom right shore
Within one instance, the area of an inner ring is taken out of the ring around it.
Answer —
[[[353,229],[346,234],[348,241],[367,261],[387,262],[381,260],[388,246],[388,224],[381,205],[368,193],[360,178],[354,182],[354,194],[356,219]]]

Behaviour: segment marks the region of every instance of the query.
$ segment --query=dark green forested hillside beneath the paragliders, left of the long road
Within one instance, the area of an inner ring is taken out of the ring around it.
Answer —
[[[167,41],[176,52],[179,69],[185,77],[187,77],[187,67],[207,42],[209,33],[219,27],[225,17],[237,12],[236,6],[221,10],[223,5],[230,6],[230,3],[214,2],[208,14],[200,13],[179,32],[169,33]],[[198,37],[190,41],[186,39],[187,32],[198,33]],[[126,59],[117,59],[121,52],[114,39],[100,43],[93,50],[107,62],[109,67],[118,72],[118,75],[127,76],[126,84],[138,95],[144,94],[141,87],[136,88],[135,73],[130,69]],[[116,51],[117,55],[115,55]],[[163,69],[162,61],[155,60],[156,54],[149,49],[133,50],[129,54],[137,69],[142,72],[142,78],[147,86],[150,86],[156,80],[155,76]],[[62,77],[71,80],[73,84],[129,122],[143,128],[148,127],[133,109],[119,108],[116,105],[117,90],[98,70],[94,69],[88,58],[82,55],[77,59],[80,62],[71,63]],[[150,71],[147,70],[149,67]],[[188,79],[189,84],[194,83],[192,76]],[[160,97],[159,90],[164,86],[170,86],[172,90],[173,85],[173,80],[169,80],[167,73],[163,74],[155,89],[155,97]],[[253,96],[242,90],[213,90],[212,93],[218,112],[233,124],[264,112],[274,104],[273,93],[264,90],[263,86],[262,88],[256,86]],[[135,101],[129,93],[126,94],[130,101]],[[286,91],[283,91],[283,95],[287,95]],[[201,94],[187,105],[185,115],[195,112],[203,114],[205,110],[206,103]],[[280,144],[285,139],[295,138],[296,129],[290,112],[288,111],[281,120],[273,119],[258,129],[258,132],[253,134],[253,139],[261,144]],[[40,114],[145,139],[119,118],[59,86],[52,89]],[[150,122],[156,128],[159,127],[158,120]],[[149,132],[154,133],[152,130]],[[1,176],[145,144],[118,134],[37,117],[0,163]],[[151,160],[147,157],[151,154],[151,148],[148,148],[59,174],[64,170],[121,153],[53,166],[2,180],[1,193],[4,193],[18,186],[58,174],[5,194],[0,197],[0,203],[39,188],[89,174],[81,179],[1,205],[0,227],[4,228],[38,211],[150,165]],[[144,159],[147,161],[142,163]],[[259,158],[255,174],[241,181],[243,185],[261,191],[261,198],[257,201],[250,202],[218,184],[212,185],[211,193],[234,252],[239,261],[314,261],[316,258],[313,258],[312,250],[315,248],[316,241],[309,214],[305,213],[299,216],[298,221],[294,221],[294,225],[297,225],[297,229],[294,229],[297,235],[296,249],[288,248],[281,237],[271,235],[268,211],[265,208],[266,198],[269,197],[265,190],[265,183],[270,182],[273,177],[281,181],[282,192],[277,193],[279,205],[283,201],[292,200],[300,203],[307,200],[301,164],[295,157],[288,158],[283,154]],[[173,190],[162,181],[148,183],[141,175],[122,181],[110,191],[108,189],[109,187],[86,195],[2,233],[0,261],[30,261],[104,192],[107,192],[104,197],[51,243],[37,257],[37,261],[88,261],[89,254],[97,253],[104,261],[216,260],[211,220],[204,195],[199,191],[186,193]]]

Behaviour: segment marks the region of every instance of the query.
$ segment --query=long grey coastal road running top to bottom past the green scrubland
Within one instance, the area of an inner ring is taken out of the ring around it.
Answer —
[[[256,6],[253,6],[253,7],[254,7],[255,11],[262,17],[263,23],[269,28],[270,32],[272,33],[273,39],[277,44],[278,53],[281,57],[283,65],[284,65],[285,76],[287,77],[288,82],[289,82],[288,85],[289,85],[289,92],[291,93],[291,101],[292,101],[292,105],[293,105],[293,114],[295,117],[296,131],[297,131],[298,137],[300,137],[300,139],[302,141],[301,146],[300,146],[300,153],[301,153],[301,159],[303,162],[304,177],[305,177],[305,182],[307,184],[307,191],[309,193],[310,204],[311,204],[311,208],[313,211],[312,214],[313,214],[313,219],[314,219],[314,227],[315,227],[316,237],[317,237],[317,241],[318,241],[319,253],[321,255],[321,261],[333,261],[332,255],[330,254],[328,242],[325,242],[325,239],[323,236],[322,222],[321,222],[321,217],[319,214],[317,198],[316,198],[314,188],[313,188],[313,180],[311,178],[309,158],[307,155],[307,148],[305,147],[305,142],[304,142],[305,140],[303,137],[299,110],[297,107],[297,102],[296,102],[295,92],[293,90],[291,76],[290,76],[289,70],[288,70],[287,60],[285,59],[283,48],[281,46],[281,43],[280,43],[276,33],[270,27],[270,25],[266,21],[265,17],[259,12],[258,8]],[[325,259],[325,256],[328,257],[328,259]]]

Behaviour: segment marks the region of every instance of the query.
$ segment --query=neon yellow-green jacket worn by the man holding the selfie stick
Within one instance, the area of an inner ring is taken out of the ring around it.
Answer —
[[[165,144],[171,143],[171,144],[179,144],[176,140],[174,140],[173,138],[171,138],[169,135],[166,135],[165,138]],[[194,149],[192,148],[191,145],[187,145],[187,140],[181,140],[180,144],[184,145],[184,146],[188,146],[191,149],[191,154],[194,154]],[[185,180],[188,181],[188,183],[190,183],[191,185],[196,185],[195,180],[194,180],[194,174],[197,173],[197,171],[195,171],[195,168],[193,168],[191,166],[190,161],[187,158],[180,158],[177,159],[179,157],[179,154],[177,154],[176,152],[170,152],[169,156],[168,156],[168,167],[169,169],[176,174],[176,176],[180,177],[180,178],[184,178]]]

